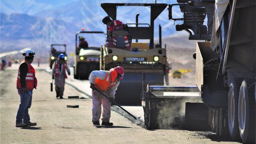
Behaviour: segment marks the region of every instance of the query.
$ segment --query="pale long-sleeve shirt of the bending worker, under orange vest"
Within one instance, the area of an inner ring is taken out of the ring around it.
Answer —
[[[109,73],[110,73],[110,71],[106,72],[106,71],[103,71],[103,70],[92,71],[92,73],[90,73],[90,76],[89,76],[89,81],[90,81],[91,84],[95,84],[95,79],[104,80],[106,78],[106,75],[108,75]],[[111,78],[109,78],[109,81],[111,81]],[[113,85],[113,84],[115,84],[115,85],[110,87],[108,89],[108,92],[104,92],[110,98],[115,98],[115,91],[117,90],[117,87],[119,85],[119,81],[118,82],[114,82],[114,83],[111,82],[110,85]]]

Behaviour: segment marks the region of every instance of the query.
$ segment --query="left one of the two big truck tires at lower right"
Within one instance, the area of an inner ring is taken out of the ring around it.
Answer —
[[[227,119],[229,125],[229,133],[233,140],[240,140],[239,125],[238,125],[238,100],[239,90],[243,78],[235,78],[229,86],[228,104],[227,104]]]

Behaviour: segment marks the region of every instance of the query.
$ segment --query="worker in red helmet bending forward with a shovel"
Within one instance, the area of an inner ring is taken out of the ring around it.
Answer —
[[[115,67],[110,71],[92,71],[90,73],[89,81],[90,88],[92,88],[92,124],[100,125],[101,115],[101,104],[103,106],[102,123],[101,125],[113,125],[110,123],[110,107],[111,103],[115,102],[115,91],[119,85],[119,81],[123,79],[125,71],[123,67]],[[103,94],[111,99],[108,100],[102,96],[98,91],[94,90],[97,88]]]

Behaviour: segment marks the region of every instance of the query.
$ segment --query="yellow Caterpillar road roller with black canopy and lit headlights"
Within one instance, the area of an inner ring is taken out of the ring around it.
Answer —
[[[150,8],[150,23],[138,23],[137,14],[136,23],[126,23],[128,30],[116,29],[113,32],[113,36],[117,37],[117,47],[112,45],[113,39],[107,37],[106,43],[101,47],[100,55],[100,69],[110,70],[117,66],[125,69],[124,78],[116,90],[115,101],[123,105],[139,105],[141,104],[142,72],[150,77],[146,83],[164,84],[166,46],[162,48],[160,25],[159,42],[154,43],[154,20],[167,7],[167,4],[101,3],[100,6],[113,20],[117,17],[117,7],[125,6],[126,10],[131,6]],[[127,35],[131,37],[131,50],[124,49],[123,37]],[[138,42],[138,40],[149,40],[149,42]]]

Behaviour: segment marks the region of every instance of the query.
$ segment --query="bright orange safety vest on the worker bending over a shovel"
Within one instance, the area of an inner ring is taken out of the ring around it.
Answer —
[[[111,84],[111,77],[110,77],[110,73],[108,73],[108,71],[106,72],[106,77],[104,80],[101,79],[95,79],[95,86],[96,88],[99,88],[100,90],[104,91],[104,92],[108,92],[108,90],[112,87],[115,86],[116,83]]]

